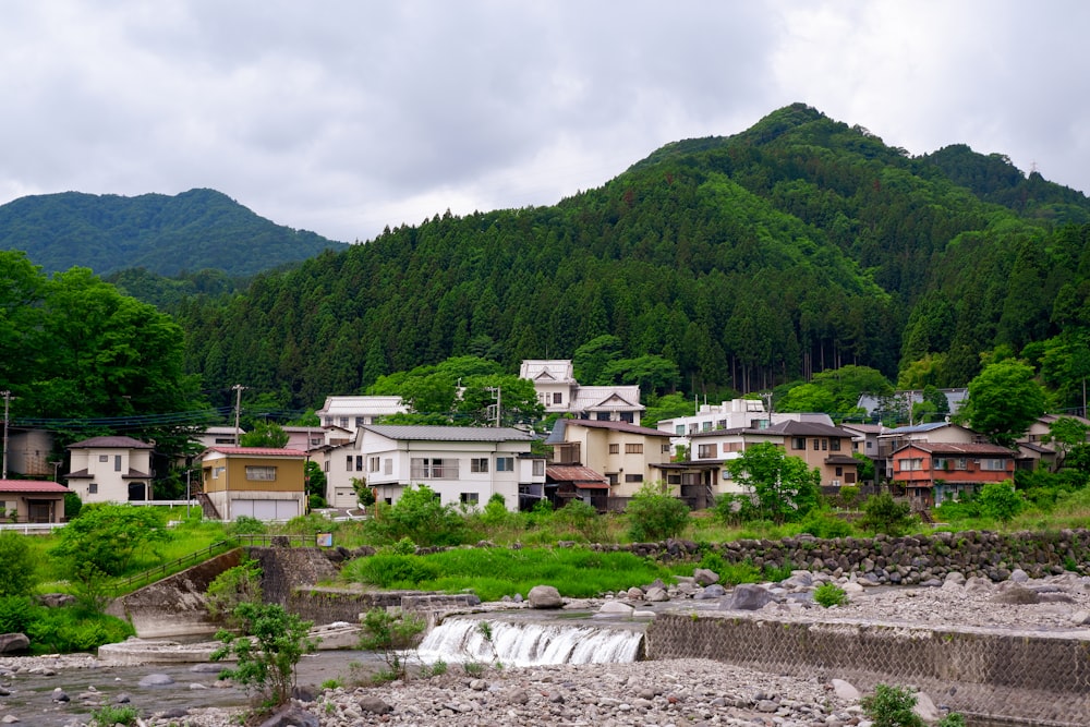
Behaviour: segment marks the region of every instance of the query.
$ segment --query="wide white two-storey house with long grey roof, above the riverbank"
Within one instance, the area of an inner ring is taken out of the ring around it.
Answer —
[[[533,435],[510,427],[364,425],[355,440],[326,452],[329,504],[355,504],[353,478],[395,502],[408,485],[427,485],[444,505],[484,506],[495,494],[508,510],[541,499],[545,458]]]

